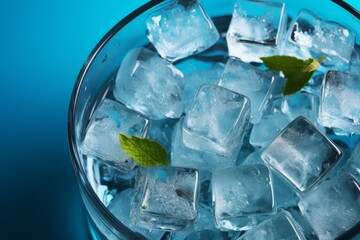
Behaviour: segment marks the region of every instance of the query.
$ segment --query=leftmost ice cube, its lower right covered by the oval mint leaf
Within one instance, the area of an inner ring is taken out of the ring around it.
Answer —
[[[129,171],[134,161],[121,148],[119,134],[145,137],[149,121],[118,102],[104,99],[94,111],[81,145],[81,152]]]

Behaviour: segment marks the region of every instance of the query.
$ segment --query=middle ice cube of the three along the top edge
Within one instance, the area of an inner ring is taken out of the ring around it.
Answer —
[[[245,62],[280,55],[286,20],[284,3],[236,0],[226,35],[229,55]]]

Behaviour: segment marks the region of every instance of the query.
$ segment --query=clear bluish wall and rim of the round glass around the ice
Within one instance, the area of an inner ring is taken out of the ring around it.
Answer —
[[[90,53],[74,86],[68,115],[68,138],[75,173],[80,192],[87,209],[88,222],[95,239],[143,239],[138,233],[130,231],[117,220],[99,199],[93,189],[96,181],[88,177],[90,168],[83,161],[79,146],[94,109],[112,89],[117,69],[129,49],[149,46],[146,38],[145,19],[166,1],[154,0],[141,6],[116,24]],[[360,13],[338,0],[298,1],[283,0],[287,14],[296,16],[301,8],[310,9],[323,19],[336,21],[357,31],[357,44],[360,39]],[[220,33],[227,31],[233,11],[231,1],[202,1],[204,9],[214,19]],[[95,183],[94,183],[95,182]]]

